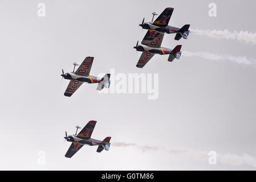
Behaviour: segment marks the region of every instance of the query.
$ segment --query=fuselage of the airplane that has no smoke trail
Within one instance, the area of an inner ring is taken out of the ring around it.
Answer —
[[[80,82],[87,82],[89,84],[99,83],[102,78],[91,76],[91,75],[79,75],[74,72],[65,73],[62,75],[67,80],[78,80]]]

